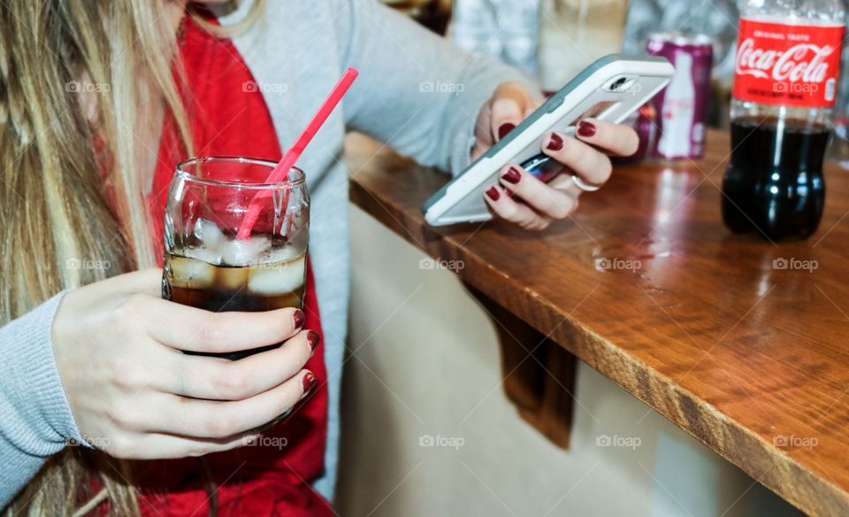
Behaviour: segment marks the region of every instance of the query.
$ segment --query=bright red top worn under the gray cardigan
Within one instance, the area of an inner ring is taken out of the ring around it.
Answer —
[[[184,92],[195,156],[249,156],[278,160],[281,156],[271,115],[248,66],[233,42],[216,39],[186,17],[180,57],[187,78]],[[162,256],[162,229],[168,185],[174,167],[188,158],[171,117],[164,120],[158,165],[149,211]],[[309,174],[309,171],[306,172]],[[308,263],[304,328],[321,333],[312,269]],[[318,345],[307,367],[317,379],[310,397],[257,446],[205,457],[217,487],[221,517],[322,516],[333,512],[310,483],[322,474],[327,430],[327,378],[324,345]],[[207,482],[198,459],[144,462],[140,477],[142,514],[187,517],[206,515]]]

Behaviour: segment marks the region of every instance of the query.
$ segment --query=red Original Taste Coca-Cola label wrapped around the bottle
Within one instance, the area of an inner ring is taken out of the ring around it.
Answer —
[[[734,97],[809,108],[834,105],[844,26],[740,19]]]

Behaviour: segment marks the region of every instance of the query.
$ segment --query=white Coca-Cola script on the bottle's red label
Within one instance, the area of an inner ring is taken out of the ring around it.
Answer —
[[[825,63],[834,47],[799,43],[790,49],[759,49],[753,38],[740,43],[737,53],[737,73],[775,81],[823,82],[828,78],[829,64]]]

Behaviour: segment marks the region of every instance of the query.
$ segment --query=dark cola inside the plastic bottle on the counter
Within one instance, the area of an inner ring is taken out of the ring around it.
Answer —
[[[829,138],[828,127],[805,120],[733,120],[723,177],[725,226],[773,241],[813,234],[825,204],[822,161]]]

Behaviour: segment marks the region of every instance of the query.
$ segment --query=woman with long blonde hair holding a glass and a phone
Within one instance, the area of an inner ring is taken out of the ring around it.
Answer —
[[[539,105],[518,73],[375,0],[256,0],[214,6],[217,17],[199,4],[217,2],[0,6],[8,513],[328,514],[312,485],[333,493],[345,131],[457,172]],[[160,299],[164,189],[176,163],[279,158],[347,66],[359,79],[298,163],[315,270],[304,312],[206,313]],[[425,81],[463,88],[428,92]],[[597,120],[543,144],[593,185],[610,174],[605,153],[636,147],[631,129]],[[541,229],[568,217],[579,194],[567,175],[546,185],[509,166],[486,200],[501,218]],[[181,353],[280,341],[233,362]],[[277,447],[241,447],[296,404],[266,435]]]

